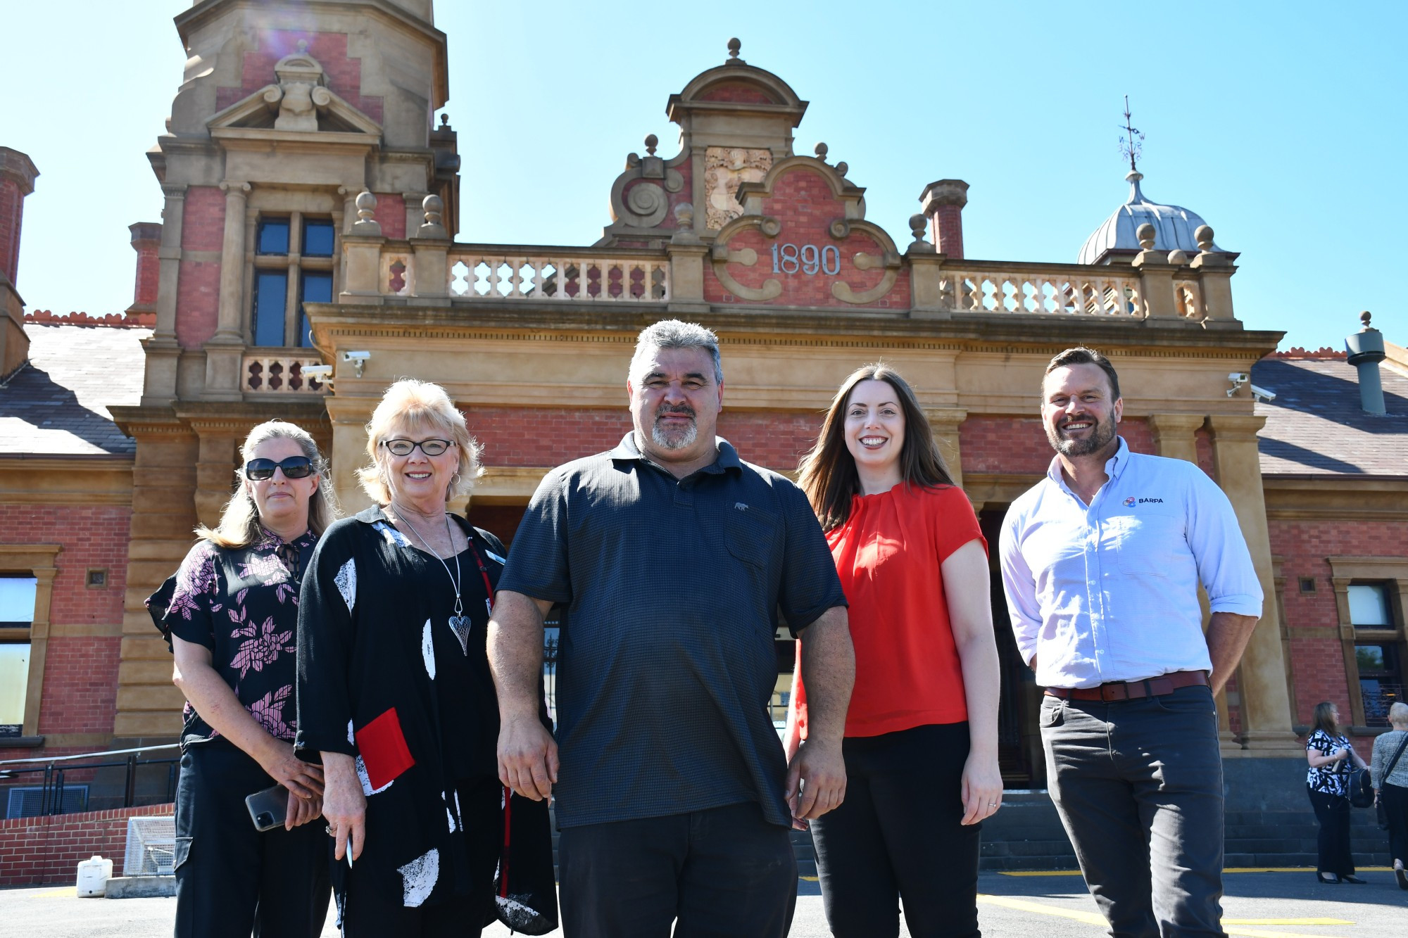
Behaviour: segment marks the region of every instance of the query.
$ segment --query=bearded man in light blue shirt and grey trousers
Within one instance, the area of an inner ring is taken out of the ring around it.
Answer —
[[[1122,411],[1100,352],[1048,365],[1042,425],[1056,456],[1007,513],[1002,586],[1017,646],[1046,687],[1052,800],[1111,932],[1224,935],[1214,697],[1262,587],[1222,490],[1190,462],[1129,452]]]

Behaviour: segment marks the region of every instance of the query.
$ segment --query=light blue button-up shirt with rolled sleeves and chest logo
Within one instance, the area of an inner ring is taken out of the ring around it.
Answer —
[[[1087,507],[1060,459],[1007,511],[998,552],[1022,661],[1043,687],[1211,670],[1198,583],[1214,613],[1262,614],[1232,503],[1198,466],[1129,452]]]

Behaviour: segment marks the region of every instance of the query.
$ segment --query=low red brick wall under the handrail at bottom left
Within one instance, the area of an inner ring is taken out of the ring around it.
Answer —
[[[172,804],[148,804],[0,821],[0,886],[73,883],[77,865],[94,853],[111,859],[113,876],[121,876],[127,820],[173,810]]]

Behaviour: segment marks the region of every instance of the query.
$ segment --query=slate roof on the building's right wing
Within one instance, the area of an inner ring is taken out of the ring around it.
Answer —
[[[1359,401],[1359,372],[1343,359],[1266,358],[1252,383],[1276,393],[1257,404],[1263,476],[1408,479],[1408,377],[1380,366],[1384,415]]]

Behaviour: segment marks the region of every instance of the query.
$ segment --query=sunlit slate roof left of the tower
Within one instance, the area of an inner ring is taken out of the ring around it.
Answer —
[[[125,456],[108,404],[138,404],[151,330],[25,324],[30,363],[0,387],[0,456]]]

